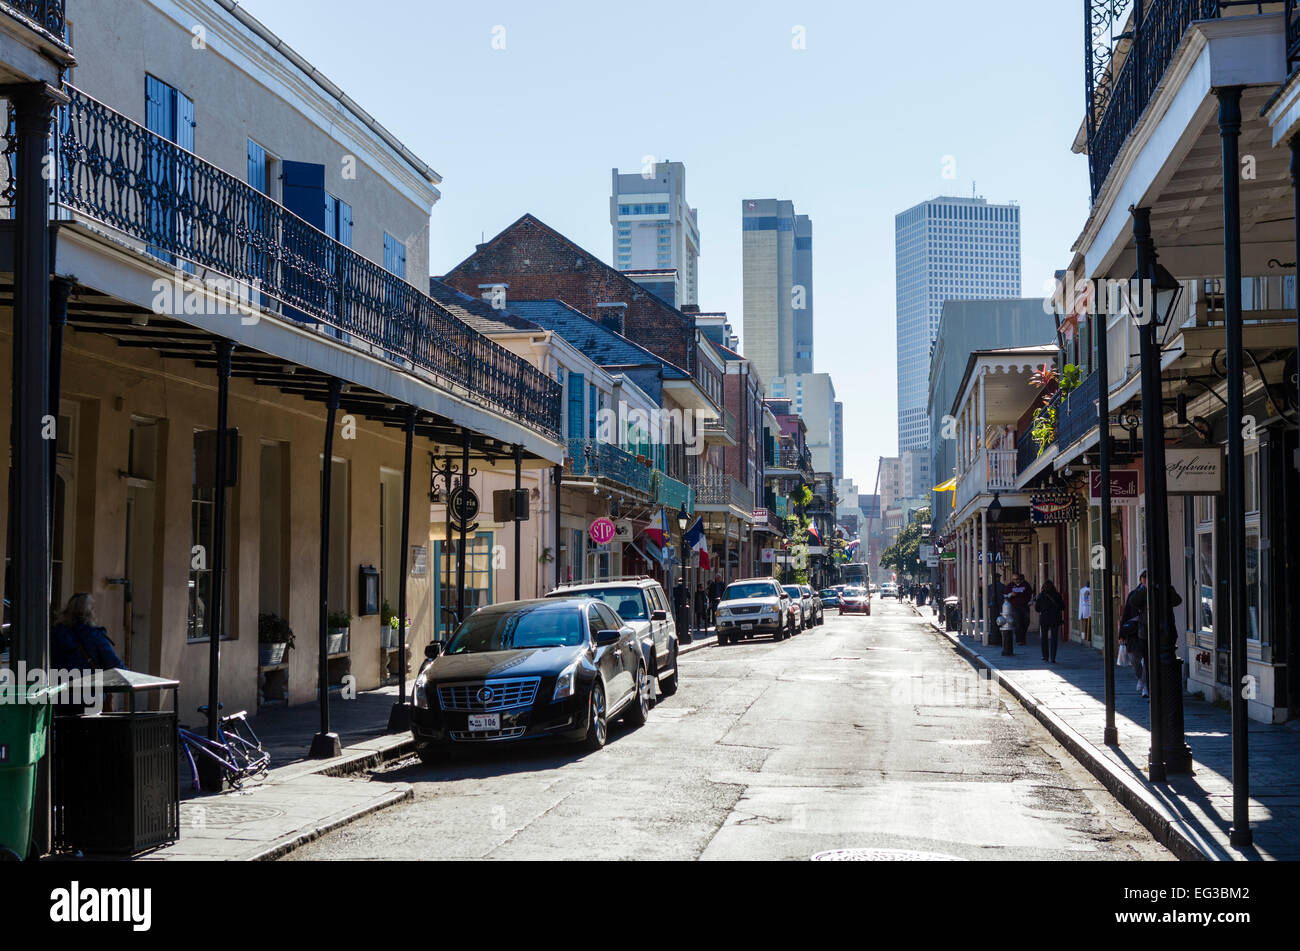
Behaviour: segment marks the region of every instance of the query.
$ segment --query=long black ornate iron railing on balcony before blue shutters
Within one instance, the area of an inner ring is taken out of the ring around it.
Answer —
[[[378,264],[234,175],[68,87],[57,200],[177,268],[203,268],[282,316],[369,344],[415,375],[556,437],[560,387]]]

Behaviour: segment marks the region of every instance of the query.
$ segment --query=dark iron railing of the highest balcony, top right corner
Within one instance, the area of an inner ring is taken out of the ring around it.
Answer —
[[[1135,13],[1135,6],[1140,16]],[[1221,14],[1264,13],[1265,8],[1278,8],[1278,4],[1234,0],[1088,0],[1084,82],[1092,200],[1101,192],[1106,175],[1165,77],[1188,27],[1197,19],[1216,19]]]

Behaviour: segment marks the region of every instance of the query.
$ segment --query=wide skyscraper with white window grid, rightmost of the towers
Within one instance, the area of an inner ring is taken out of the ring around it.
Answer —
[[[946,300],[1020,295],[1020,209],[937,197],[894,218],[898,451],[928,450],[930,347]]]

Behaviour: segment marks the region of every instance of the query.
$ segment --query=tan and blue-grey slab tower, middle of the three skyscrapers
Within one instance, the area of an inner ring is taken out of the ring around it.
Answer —
[[[763,379],[812,372],[812,221],[793,201],[741,204],[745,356]]]

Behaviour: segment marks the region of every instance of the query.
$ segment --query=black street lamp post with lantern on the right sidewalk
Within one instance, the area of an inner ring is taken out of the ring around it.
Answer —
[[[1158,330],[1169,323],[1182,285],[1160,265],[1150,234],[1150,209],[1134,208],[1138,273],[1126,295],[1126,309],[1141,343],[1143,481],[1147,501],[1147,679],[1150,691],[1149,776],[1164,782],[1167,772],[1190,773],[1192,751],[1183,739],[1183,676],[1176,637],[1169,624],[1169,485],[1165,468],[1165,405]],[[1136,299],[1134,298],[1136,290]],[[1102,434],[1105,437],[1106,434]]]

